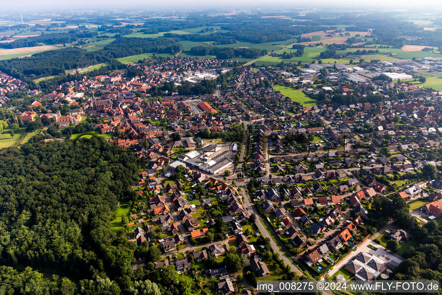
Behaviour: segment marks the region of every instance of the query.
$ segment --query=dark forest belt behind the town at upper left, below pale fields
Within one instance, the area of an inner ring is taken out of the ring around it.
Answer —
[[[107,62],[110,59],[96,52],[76,47],[44,51],[30,57],[0,61],[0,70],[11,76],[25,79],[34,76],[51,76],[65,73],[68,69],[84,68]],[[34,76],[33,76],[34,75]]]

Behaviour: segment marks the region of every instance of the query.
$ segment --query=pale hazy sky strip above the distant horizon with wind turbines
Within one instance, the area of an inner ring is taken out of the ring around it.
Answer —
[[[204,8],[220,8],[220,9],[230,9],[230,8],[257,8],[260,5],[264,7],[274,8],[279,10],[282,8],[305,8],[307,6],[307,1],[297,1],[297,0],[278,0],[277,5],[274,2],[268,1],[256,1],[256,0],[223,0],[221,2],[217,1],[207,1],[207,0],[164,0],[164,1],[152,1],[152,0],[131,0],[131,1],[121,1],[121,0],[16,0],[16,1],[1,1],[0,14],[16,13],[17,11],[23,12],[34,12],[38,11],[60,11],[60,10],[70,10],[74,11],[84,10],[101,10],[103,9],[124,9],[126,10],[146,10],[146,9],[164,9],[164,10],[178,10],[178,9],[204,9]],[[321,8],[321,7],[339,7],[348,8],[349,10],[354,9],[368,9],[368,8],[378,8],[384,10],[385,7],[389,10],[403,9],[406,2],[404,0],[373,0],[373,1],[362,1],[362,0],[310,0],[309,8]],[[123,8],[122,8],[123,5]],[[427,10],[428,12],[441,12],[442,1],[441,0],[410,0],[410,9]]]

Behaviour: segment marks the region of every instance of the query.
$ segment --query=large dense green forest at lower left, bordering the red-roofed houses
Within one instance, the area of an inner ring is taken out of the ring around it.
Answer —
[[[47,266],[80,279],[91,278],[91,269],[111,279],[132,274],[136,244],[108,221],[118,200],[135,195],[137,162],[106,142],[95,153],[101,157],[84,157],[94,152],[72,141],[0,151],[1,264]]]

